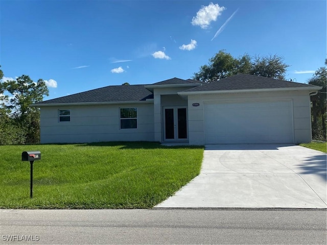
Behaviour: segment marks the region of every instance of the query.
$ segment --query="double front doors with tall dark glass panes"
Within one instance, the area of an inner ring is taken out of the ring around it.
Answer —
[[[164,107],[164,140],[187,140],[187,108],[186,107]]]

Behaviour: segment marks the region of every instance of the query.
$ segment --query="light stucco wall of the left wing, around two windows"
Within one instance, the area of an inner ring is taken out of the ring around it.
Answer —
[[[120,129],[120,109],[137,108],[137,129]],[[71,110],[71,121],[59,122],[58,110]],[[41,107],[41,143],[154,141],[153,104]]]

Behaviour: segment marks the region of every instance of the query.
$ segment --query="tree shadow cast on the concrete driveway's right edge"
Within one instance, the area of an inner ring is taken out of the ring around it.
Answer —
[[[327,159],[325,154],[308,157],[303,163],[298,164],[302,170],[300,174],[314,174],[327,181]]]

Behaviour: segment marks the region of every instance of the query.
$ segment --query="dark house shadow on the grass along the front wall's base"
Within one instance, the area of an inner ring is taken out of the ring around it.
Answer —
[[[166,146],[161,145],[160,142],[151,142],[151,141],[111,141],[111,142],[93,142],[93,143],[82,143],[76,144],[76,147],[83,146],[113,146],[119,147],[119,149],[179,149],[179,148],[188,148],[188,149],[203,149],[204,146],[201,145],[175,145],[175,146]]]

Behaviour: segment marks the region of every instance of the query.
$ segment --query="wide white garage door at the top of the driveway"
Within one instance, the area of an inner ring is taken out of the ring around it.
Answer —
[[[206,144],[293,143],[291,101],[204,104]]]

